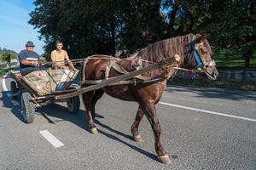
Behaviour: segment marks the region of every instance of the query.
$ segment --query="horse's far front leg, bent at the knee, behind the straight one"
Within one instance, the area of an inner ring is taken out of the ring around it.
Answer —
[[[143,115],[144,115],[144,112],[143,112],[142,108],[139,106],[139,108],[137,110],[137,115],[135,117],[135,121],[131,125],[131,134],[134,137],[134,140],[137,142],[143,141],[142,135],[140,133],[138,133],[138,126],[143,119]]]

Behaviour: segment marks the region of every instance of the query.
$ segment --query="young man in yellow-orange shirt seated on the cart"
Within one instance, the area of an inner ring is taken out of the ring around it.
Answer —
[[[65,60],[67,60],[68,65],[71,67],[73,71],[75,71],[76,68],[73,66],[73,63],[69,59],[67,55],[67,51],[62,49],[63,43],[61,41],[57,41],[55,43],[55,46],[56,46],[56,49],[53,50],[50,54],[52,65],[57,68],[67,69],[68,67],[65,65]]]

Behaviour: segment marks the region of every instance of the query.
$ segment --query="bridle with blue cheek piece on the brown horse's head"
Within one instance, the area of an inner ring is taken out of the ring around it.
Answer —
[[[188,63],[190,63],[193,58],[195,59],[196,65],[193,69],[204,71],[207,69],[207,67],[216,65],[213,59],[207,62],[205,55],[201,52],[200,43],[196,41],[191,42],[191,48],[192,48],[192,54],[189,58]]]

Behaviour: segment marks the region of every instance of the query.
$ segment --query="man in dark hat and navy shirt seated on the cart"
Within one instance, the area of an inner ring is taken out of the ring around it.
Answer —
[[[40,65],[39,55],[33,51],[35,45],[33,42],[26,42],[26,49],[20,51],[18,56],[20,62],[20,73],[25,76],[32,71],[44,70],[44,67]]]

